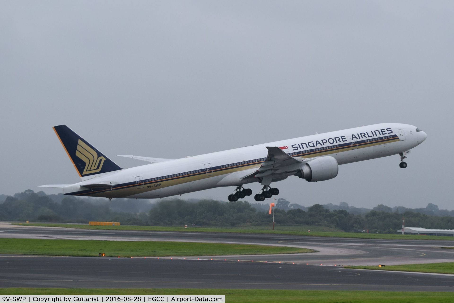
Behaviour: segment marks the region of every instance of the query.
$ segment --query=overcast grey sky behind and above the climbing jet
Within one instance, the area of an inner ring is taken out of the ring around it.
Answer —
[[[146,162],[115,155],[400,122],[428,134],[406,169],[399,156],[347,164],[276,183],[278,197],[453,210],[453,16],[452,1],[1,1],[0,193],[80,180],[59,124],[132,167]]]

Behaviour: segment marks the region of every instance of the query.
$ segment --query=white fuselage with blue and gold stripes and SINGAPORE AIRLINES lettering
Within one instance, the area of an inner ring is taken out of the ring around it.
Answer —
[[[257,182],[254,178],[242,178],[261,166],[268,153],[265,147],[280,147],[290,156],[304,159],[332,156],[341,165],[406,152],[426,137],[425,132],[416,131],[412,125],[381,123],[132,167],[67,186],[64,193],[107,198],[162,198]],[[294,174],[276,176],[273,181]],[[83,187],[106,182],[112,184],[108,190]]]

